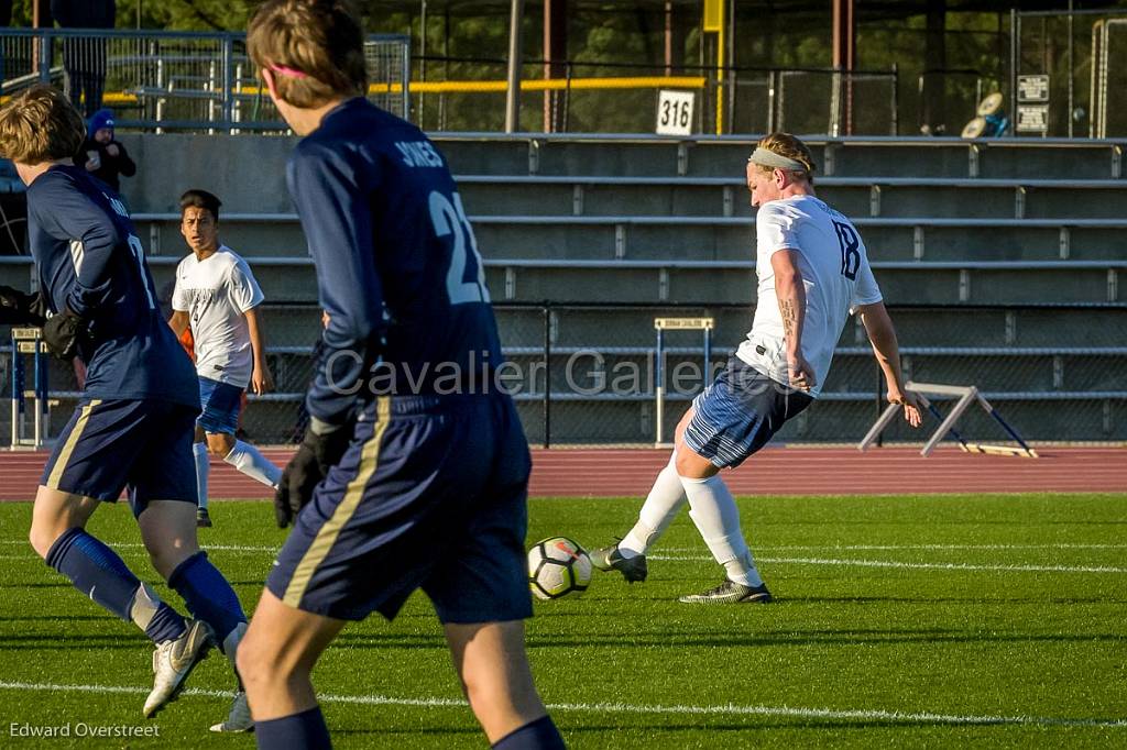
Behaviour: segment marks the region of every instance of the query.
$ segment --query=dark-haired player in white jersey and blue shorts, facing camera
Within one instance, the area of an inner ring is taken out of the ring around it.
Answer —
[[[208,452],[247,476],[276,488],[282,470],[258,448],[234,437],[242,392],[274,389],[263,347],[258,305],[263,291],[247,261],[219,241],[220,200],[206,190],[180,196],[180,234],[192,252],[176,268],[172,316],[177,337],[188,327],[195,341],[202,412],[195,444],[198,508],[196,524],[211,526],[207,514]]]

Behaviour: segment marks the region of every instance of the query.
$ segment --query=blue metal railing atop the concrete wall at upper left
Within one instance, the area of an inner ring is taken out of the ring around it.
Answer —
[[[401,117],[410,111],[410,41],[365,41],[369,97]],[[86,116],[114,108],[118,126],[207,132],[285,131],[246,35],[118,29],[0,29],[6,95],[59,84]]]

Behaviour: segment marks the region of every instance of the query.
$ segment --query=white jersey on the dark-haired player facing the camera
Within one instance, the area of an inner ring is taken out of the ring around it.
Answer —
[[[261,301],[250,266],[227,245],[204,260],[188,253],[176,267],[172,310],[189,313],[201,377],[247,387],[255,360],[246,312]]]

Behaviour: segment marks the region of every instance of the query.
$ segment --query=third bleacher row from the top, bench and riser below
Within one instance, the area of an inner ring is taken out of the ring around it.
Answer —
[[[1127,194],[1125,194],[1127,197]],[[597,260],[754,256],[754,220],[744,216],[473,215],[488,259]],[[179,215],[137,213],[151,255],[183,256]],[[1118,259],[1127,218],[861,216],[854,223],[879,260]],[[296,214],[224,214],[222,239],[249,257],[305,256]]]

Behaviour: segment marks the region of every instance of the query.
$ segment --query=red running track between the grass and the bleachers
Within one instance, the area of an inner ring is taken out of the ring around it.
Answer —
[[[282,464],[290,449],[266,449]],[[1040,458],[969,455],[940,448],[782,447],[755,454],[722,476],[736,494],[913,494],[941,492],[1127,492],[1127,448],[1038,448]],[[642,497],[668,461],[649,448],[532,452],[534,497]],[[30,500],[44,453],[0,453],[0,500]],[[265,499],[270,492],[212,461],[215,498]]]

